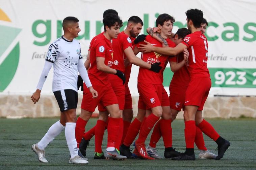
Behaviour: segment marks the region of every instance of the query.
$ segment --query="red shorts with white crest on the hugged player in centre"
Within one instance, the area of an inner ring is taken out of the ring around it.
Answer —
[[[138,82],[139,96],[143,99],[146,109],[161,106],[162,84],[150,84]]]

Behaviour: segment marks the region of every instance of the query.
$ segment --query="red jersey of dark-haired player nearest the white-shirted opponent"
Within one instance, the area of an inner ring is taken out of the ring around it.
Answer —
[[[93,84],[97,84],[98,86],[106,86],[107,84],[110,84],[108,77],[109,74],[97,69],[96,57],[104,57],[105,65],[108,67],[112,66],[112,44],[111,41],[108,40],[103,34],[99,34],[92,45],[90,54],[91,68],[88,70],[88,75]]]

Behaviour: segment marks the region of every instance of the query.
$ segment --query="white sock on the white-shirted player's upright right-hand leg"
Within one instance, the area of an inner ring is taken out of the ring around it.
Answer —
[[[73,123],[73,122],[66,123],[65,136],[66,136],[67,144],[69,147],[71,159],[74,158],[75,156],[78,156],[75,128],[76,128],[76,123]]]

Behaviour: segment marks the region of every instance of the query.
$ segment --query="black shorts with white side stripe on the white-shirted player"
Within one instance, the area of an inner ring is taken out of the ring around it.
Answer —
[[[53,92],[58,105],[60,112],[67,111],[69,109],[76,109],[78,95],[77,92],[72,89],[65,89]]]

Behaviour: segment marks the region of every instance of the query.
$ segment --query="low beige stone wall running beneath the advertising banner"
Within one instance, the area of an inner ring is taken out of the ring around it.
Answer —
[[[82,96],[79,96],[77,114],[81,111],[81,100]],[[132,102],[136,116],[138,96],[134,96]],[[59,116],[59,112],[54,95],[41,95],[36,104],[29,95],[0,95],[0,117],[52,117]],[[208,97],[204,105],[205,118],[240,116],[256,118],[256,97]],[[177,118],[183,118],[183,113],[179,113]]]

